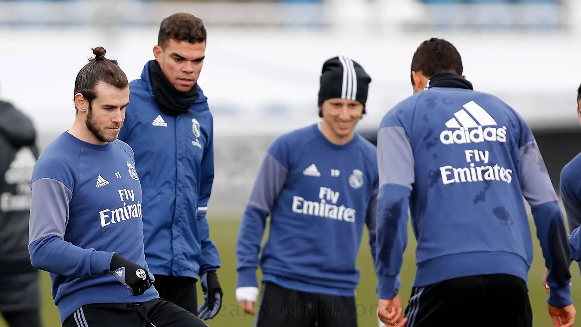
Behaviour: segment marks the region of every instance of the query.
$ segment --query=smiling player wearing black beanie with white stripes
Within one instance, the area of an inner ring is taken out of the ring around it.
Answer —
[[[356,259],[364,225],[375,257],[376,149],[354,131],[371,78],[360,64],[338,56],[323,64],[320,82],[321,121],[271,143],[242,217],[236,299],[255,314],[260,264],[257,327],[357,326]]]

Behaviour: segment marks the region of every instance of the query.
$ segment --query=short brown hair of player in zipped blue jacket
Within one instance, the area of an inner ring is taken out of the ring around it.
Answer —
[[[170,39],[177,42],[202,43],[206,41],[206,27],[196,16],[189,13],[174,13],[162,20],[157,34],[157,45],[165,48]]]

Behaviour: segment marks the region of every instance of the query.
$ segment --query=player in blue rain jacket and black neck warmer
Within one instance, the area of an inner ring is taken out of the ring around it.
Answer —
[[[131,81],[119,139],[135,152],[144,188],[145,257],[162,299],[204,319],[220,310],[220,256],[206,219],[214,181],[213,117],[198,85],[202,20],[175,13],[159,28],[155,59]],[[198,307],[196,282],[205,302]]]

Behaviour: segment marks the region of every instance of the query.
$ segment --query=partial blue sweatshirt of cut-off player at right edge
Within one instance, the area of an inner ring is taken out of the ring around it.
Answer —
[[[581,270],[581,153],[577,154],[561,170],[561,200],[569,225],[569,249],[572,260],[578,261]]]

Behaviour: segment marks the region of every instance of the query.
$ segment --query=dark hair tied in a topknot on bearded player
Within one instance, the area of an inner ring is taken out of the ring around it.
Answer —
[[[89,58],[89,62],[78,72],[74,81],[74,94],[83,95],[89,105],[97,97],[95,86],[98,82],[105,82],[119,89],[129,86],[127,76],[117,64],[117,60],[105,58],[105,48],[98,46],[91,50],[95,58]]]

